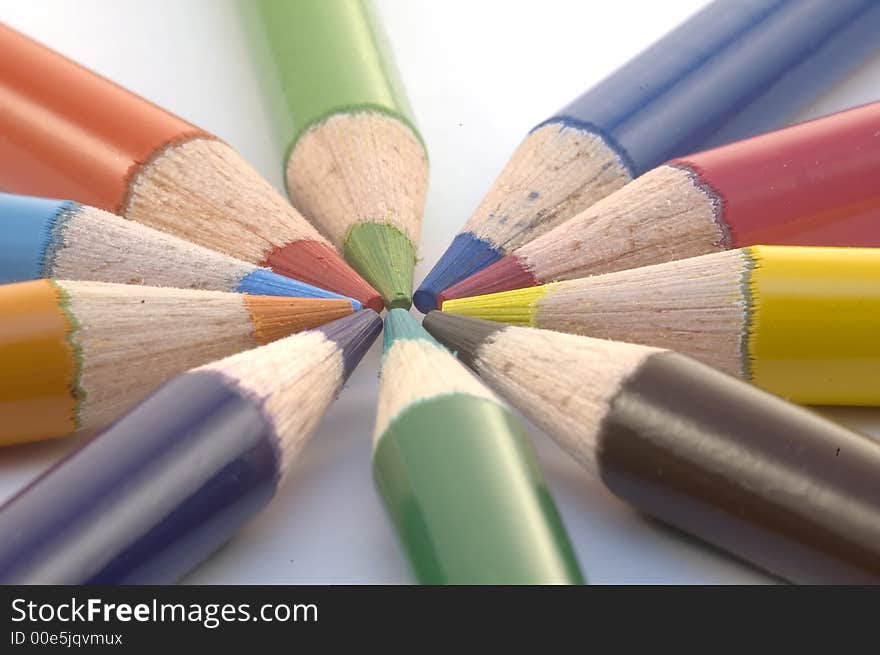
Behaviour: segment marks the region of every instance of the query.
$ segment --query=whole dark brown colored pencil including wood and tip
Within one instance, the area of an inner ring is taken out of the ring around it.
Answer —
[[[668,350],[425,327],[637,509],[798,583],[880,581],[880,444]]]

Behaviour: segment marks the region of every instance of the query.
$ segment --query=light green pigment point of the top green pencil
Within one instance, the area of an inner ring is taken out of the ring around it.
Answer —
[[[345,258],[381,294],[389,309],[412,306],[415,248],[393,225],[361,222],[345,238]]]

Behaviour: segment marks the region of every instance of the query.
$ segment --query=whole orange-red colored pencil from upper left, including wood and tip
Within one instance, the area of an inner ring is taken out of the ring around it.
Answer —
[[[381,309],[238,153],[0,25],[0,188],[70,198]]]

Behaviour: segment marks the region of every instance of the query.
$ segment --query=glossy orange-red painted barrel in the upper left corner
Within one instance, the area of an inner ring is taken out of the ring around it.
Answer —
[[[209,136],[5,25],[0,50],[5,189],[118,213],[135,162],[171,142]]]

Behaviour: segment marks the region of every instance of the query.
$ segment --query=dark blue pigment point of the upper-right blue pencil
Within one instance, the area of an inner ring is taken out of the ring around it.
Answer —
[[[497,262],[503,256],[501,250],[470,232],[457,234],[413,295],[413,303],[420,312],[427,314],[439,306],[437,296],[441,291]]]

